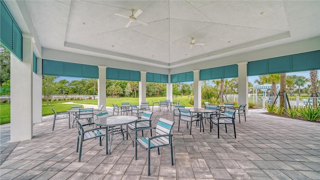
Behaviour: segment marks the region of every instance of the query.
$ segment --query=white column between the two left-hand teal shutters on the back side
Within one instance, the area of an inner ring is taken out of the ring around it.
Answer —
[[[106,74],[106,66],[98,65],[98,107],[103,105],[105,110],[106,105],[106,87],[105,87],[105,74]]]

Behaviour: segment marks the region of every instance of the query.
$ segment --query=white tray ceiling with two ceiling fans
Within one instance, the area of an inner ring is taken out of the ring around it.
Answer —
[[[27,0],[42,47],[173,68],[320,35],[319,0]],[[141,9],[124,25],[130,9]],[[83,25],[83,22],[85,25]],[[191,49],[190,37],[195,43]]]

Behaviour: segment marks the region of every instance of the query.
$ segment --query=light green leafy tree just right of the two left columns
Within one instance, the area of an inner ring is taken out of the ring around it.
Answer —
[[[56,92],[56,83],[54,82],[56,78],[56,76],[42,75],[42,94],[46,98],[47,106],[49,105],[49,97]]]

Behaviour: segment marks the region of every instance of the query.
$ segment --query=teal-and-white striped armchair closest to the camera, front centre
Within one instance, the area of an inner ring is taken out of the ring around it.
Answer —
[[[159,147],[170,145],[171,150],[171,165],[173,165],[173,151],[172,151],[172,134],[171,129],[173,127],[174,122],[160,118],[156,124],[155,127],[155,136],[151,137],[141,137],[135,139],[135,160],[137,160],[137,144],[140,145],[144,150],[148,151],[148,175],[150,175],[150,149],[151,148],[157,148],[158,155],[160,155]],[[151,129],[154,127],[145,127],[140,128],[135,131],[135,137],[137,135],[137,131],[143,130],[143,129]]]

